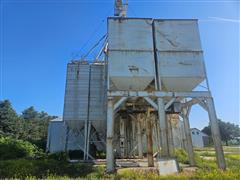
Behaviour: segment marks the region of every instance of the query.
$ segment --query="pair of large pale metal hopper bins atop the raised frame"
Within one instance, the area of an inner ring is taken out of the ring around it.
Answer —
[[[197,20],[108,18],[108,36],[110,90],[146,90],[158,76],[164,91],[192,91],[205,79]]]

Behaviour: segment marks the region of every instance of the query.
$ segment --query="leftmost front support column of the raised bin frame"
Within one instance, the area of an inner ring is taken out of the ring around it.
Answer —
[[[114,133],[113,98],[108,98],[108,106],[107,106],[107,172],[113,172],[115,170],[114,153],[113,153],[113,133]]]

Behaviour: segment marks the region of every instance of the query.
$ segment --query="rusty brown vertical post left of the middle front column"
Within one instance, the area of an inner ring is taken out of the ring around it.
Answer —
[[[152,122],[150,117],[150,111],[148,110],[147,115],[147,158],[148,167],[154,167],[153,162],[153,141],[152,141]]]

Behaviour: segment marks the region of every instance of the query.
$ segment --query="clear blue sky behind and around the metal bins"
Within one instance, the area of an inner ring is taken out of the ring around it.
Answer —
[[[0,0],[0,99],[62,115],[66,64],[106,32],[113,0]],[[129,17],[199,19],[217,115],[239,124],[238,1],[129,1]],[[86,43],[87,42],[87,43]],[[208,124],[194,107],[192,127]]]

